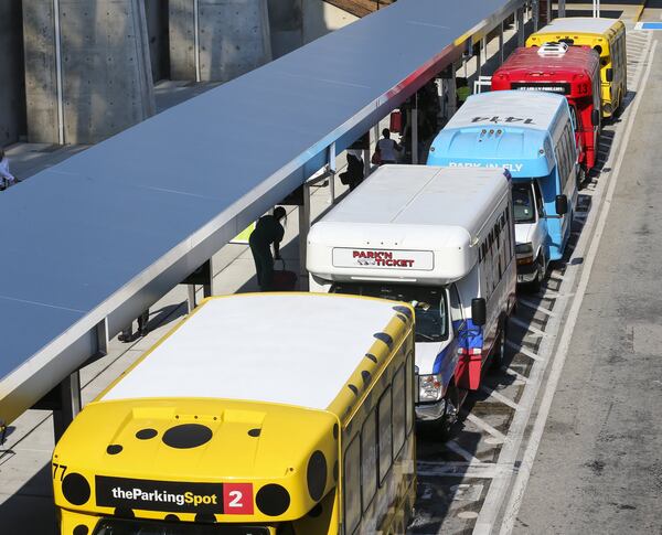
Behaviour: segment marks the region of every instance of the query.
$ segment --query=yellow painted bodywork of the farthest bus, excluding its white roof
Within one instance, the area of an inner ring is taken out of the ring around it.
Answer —
[[[551,30],[551,29],[549,29]],[[526,46],[541,46],[543,43],[559,42],[564,39],[572,39],[576,46],[600,46],[600,86],[602,100],[602,117],[611,117],[613,111],[622,105],[627,93],[628,65],[626,57],[626,25],[615,19],[611,28],[605,33],[584,33],[584,32],[554,32],[544,31],[532,33],[526,40]],[[621,38],[622,35],[622,38]],[[612,47],[617,39],[622,39],[623,61],[615,63],[612,61]],[[613,72],[612,82],[607,81],[607,71]]]

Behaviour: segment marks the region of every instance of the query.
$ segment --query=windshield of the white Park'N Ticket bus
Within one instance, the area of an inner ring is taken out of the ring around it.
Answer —
[[[448,307],[442,288],[335,282],[331,292],[412,303],[416,312],[416,342],[439,342],[448,338]]]

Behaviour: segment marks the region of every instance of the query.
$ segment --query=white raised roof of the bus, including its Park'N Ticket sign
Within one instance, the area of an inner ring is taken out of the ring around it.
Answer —
[[[509,194],[501,169],[383,165],[312,226],[308,270],[334,280],[458,280]]]

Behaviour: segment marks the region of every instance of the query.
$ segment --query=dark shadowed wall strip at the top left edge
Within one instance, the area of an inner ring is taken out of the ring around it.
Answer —
[[[0,2],[0,147],[25,133],[25,77],[21,2]]]

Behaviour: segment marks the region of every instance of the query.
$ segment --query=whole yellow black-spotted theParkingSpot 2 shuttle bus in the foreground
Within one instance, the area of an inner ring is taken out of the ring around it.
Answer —
[[[62,534],[404,533],[413,318],[349,296],[203,301],[57,443]]]

